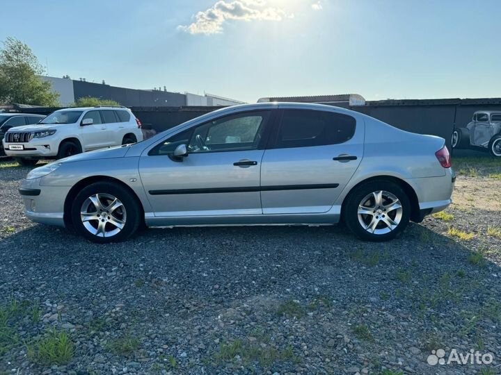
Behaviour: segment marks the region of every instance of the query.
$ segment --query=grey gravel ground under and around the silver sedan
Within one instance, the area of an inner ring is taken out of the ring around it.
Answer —
[[[0,374],[499,374],[496,169],[466,165],[452,217],[384,244],[335,226],[97,245],[29,222],[29,169],[0,164]],[[494,360],[428,365],[438,349]]]

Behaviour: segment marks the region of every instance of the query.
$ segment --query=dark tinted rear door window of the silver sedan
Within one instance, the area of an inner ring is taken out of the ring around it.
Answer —
[[[356,119],[320,110],[285,110],[276,148],[340,144],[353,137]]]

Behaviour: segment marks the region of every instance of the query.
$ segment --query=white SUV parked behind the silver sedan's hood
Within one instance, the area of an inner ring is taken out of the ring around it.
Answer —
[[[125,107],[56,110],[39,124],[6,132],[3,148],[21,165],[143,140],[141,122]]]

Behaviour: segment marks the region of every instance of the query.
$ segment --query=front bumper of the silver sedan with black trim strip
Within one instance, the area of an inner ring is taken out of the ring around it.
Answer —
[[[19,188],[26,217],[37,223],[65,226],[64,202],[70,187],[41,186],[42,178],[24,180]]]

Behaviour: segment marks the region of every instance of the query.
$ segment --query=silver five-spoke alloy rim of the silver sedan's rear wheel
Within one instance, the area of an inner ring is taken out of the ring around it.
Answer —
[[[378,190],[367,194],[358,205],[358,222],[365,231],[383,235],[397,228],[403,208],[400,200],[390,192]]]

